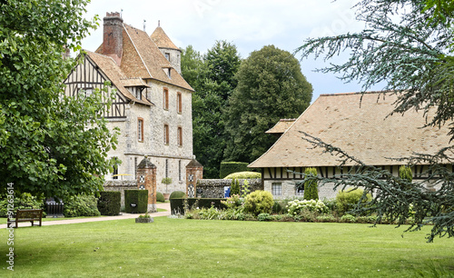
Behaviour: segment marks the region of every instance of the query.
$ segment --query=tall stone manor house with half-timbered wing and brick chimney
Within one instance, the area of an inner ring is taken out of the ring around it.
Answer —
[[[185,166],[193,158],[193,90],[180,74],[179,50],[168,50],[173,43],[160,26],[153,34],[123,24],[118,13],[108,13],[103,44],[95,52],[85,51],[83,62],[64,84],[65,94],[72,96],[111,84],[104,97],[114,90],[114,102],[104,117],[120,136],[117,149],[108,155],[122,163],[106,179],[135,179],[146,155],[157,166],[157,190],[166,194],[185,191]],[[172,184],[161,184],[164,177],[172,178]]]

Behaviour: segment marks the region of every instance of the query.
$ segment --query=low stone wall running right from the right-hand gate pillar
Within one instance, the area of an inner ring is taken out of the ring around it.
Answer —
[[[240,190],[243,188],[245,180],[238,180],[240,182]],[[256,190],[263,190],[262,179],[251,179],[249,186],[251,192]],[[224,197],[224,186],[231,186],[232,180],[210,180],[202,179],[197,181],[197,197],[202,198],[223,198]]]

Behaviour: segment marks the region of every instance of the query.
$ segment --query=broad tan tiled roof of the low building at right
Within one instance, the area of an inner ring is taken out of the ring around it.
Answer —
[[[362,100],[361,100],[362,97]],[[367,94],[321,94],[285,134],[250,167],[336,166],[340,158],[323,154],[301,139],[303,131],[327,144],[340,147],[370,165],[405,164],[390,158],[435,154],[449,146],[448,124],[420,128],[426,124],[422,112],[388,116],[397,95],[391,92]],[[388,117],[387,117],[388,116]],[[430,118],[429,114],[429,118]],[[346,164],[347,166],[353,164]]]

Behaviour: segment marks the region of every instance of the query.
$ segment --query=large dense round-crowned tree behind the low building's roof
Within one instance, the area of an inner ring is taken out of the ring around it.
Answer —
[[[262,155],[274,138],[265,131],[281,118],[299,116],[310,104],[312,86],[289,52],[273,45],[254,51],[242,62],[238,85],[225,110],[231,141],[225,158],[251,162]]]

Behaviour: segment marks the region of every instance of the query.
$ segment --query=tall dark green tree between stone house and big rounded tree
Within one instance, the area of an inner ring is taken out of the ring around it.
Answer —
[[[235,45],[217,41],[206,55],[187,46],[182,55],[182,74],[192,94],[194,154],[203,165],[203,176],[218,178],[226,146],[222,109],[236,86],[234,75],[241,64]]]

